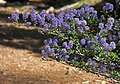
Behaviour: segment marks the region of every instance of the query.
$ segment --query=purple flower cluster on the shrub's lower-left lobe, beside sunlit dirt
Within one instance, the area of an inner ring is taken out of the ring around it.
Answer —
[[[68,51],[73,48],[73,41],[70,40],[69,42],[63,42],[61,45],[56,37],[48,38],[44,40],[45,47],[41,51],[42,54],[46,57],[52,56],[53,58],[59,60],[67,60],[73,56],[73,54],[69,54]],[[75,60],[77,57],[74,56]]]

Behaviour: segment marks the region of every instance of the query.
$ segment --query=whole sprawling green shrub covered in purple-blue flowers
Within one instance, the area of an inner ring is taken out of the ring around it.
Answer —
[[[116,73],[120,78],[120,2],[116,6],[106,3],[102,15],[84,4],[80,9],[68,9],[58,14],[47,14],[45,10],[22,14],[17,12],[9,19],[35,26],[42,34],[53,35],[44,40],[41,53],[45,57],[65,60],[90,71]],[[112,71],[112,72],[111,72]]]

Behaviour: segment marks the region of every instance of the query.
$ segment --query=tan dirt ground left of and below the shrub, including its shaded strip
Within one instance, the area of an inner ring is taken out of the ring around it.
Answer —
[[[112,79],[65,63],[43,60],[40,49],[46,37],[40,35],[37,30],[14,26],[7,21],[8,14],[2,12],[0,84],[117,84]]]

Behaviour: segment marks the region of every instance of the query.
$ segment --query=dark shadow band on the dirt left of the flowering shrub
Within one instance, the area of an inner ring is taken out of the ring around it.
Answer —
[[[8,16],[8,14],[0,14],[0,45],[40,53],[43,40],[48,36],[43,36],[37,29],[13,26],[8,22]]]

